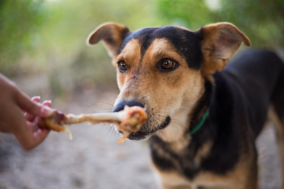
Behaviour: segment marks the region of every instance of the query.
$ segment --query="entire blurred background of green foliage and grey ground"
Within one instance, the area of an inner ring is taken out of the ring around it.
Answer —
[[[111,111],[115,69],[101,43],[85,43],[107,21],[132,31],[171,24],[197,30],[228,21],[252,47],[284,54],[283,0],[0,0],[0,72],[62,111]],[[0,134],[0,188],[157,188],[145,142],[117,145],[111,126],[82,124],[71,131],[73,141],[52,132],[29,153]],[[260,170],[269,170],[260,174],[265,189],[279,183],[273,130],[266,132],[259,160]]]

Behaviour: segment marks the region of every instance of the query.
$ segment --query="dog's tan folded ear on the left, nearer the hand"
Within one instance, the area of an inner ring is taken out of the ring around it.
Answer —
[[[89,34],[87,38],[87,45],[94,46],[102,40],[110,57],[115,58],[118,54],[123,38],[128,32],[128,28],[124,25],[107,22],[99,25]]]

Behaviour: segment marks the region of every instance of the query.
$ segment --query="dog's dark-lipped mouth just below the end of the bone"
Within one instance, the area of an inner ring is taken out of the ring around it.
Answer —
[[[145,140],[148,137],[150,137],[151,135],[155,134],[157,131],[166,128],[171,122],[171,117],[168,116],[165,118],[165,120],[159,124],[158,126],[155,126],[153,129],[150,129],[150,131],[146,132],[145,128],[147,128],[147,125],[144,125],[141,127],[140,131],[138,131],[137,133],[132,133],[128,136],[129,140]]]

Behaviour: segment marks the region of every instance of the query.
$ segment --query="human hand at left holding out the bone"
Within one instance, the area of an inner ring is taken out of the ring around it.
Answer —
[[[0,74],[0,131],[14,134],[24,150],[35,148],[47,137],[49,131],[39,128],[38,121],[39,117],[53,113],[50,103],[39,103],[39,97],[30,100],[15,83]]]

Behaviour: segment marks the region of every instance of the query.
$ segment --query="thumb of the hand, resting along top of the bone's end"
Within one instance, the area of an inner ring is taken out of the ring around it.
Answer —
[[[44,106],[41,103],[30,100],[30,98],[21,91],[19,91],[18,94],[16,95],[16,101],[22,110],[34,116],[48,117],[54,112],[54,110],[51,109],[50,107]]]

